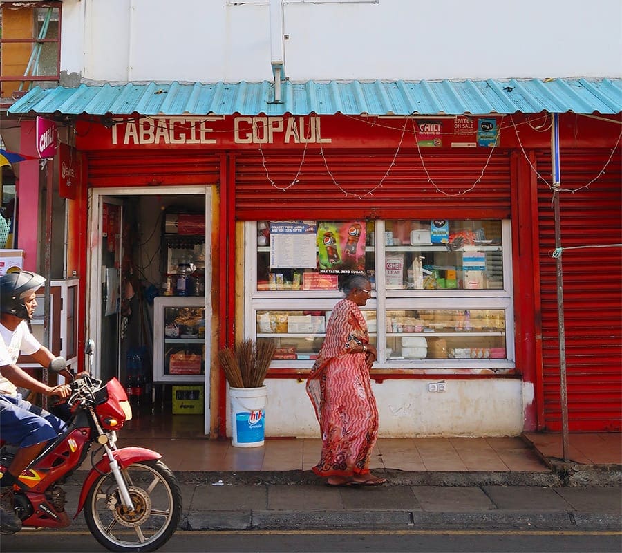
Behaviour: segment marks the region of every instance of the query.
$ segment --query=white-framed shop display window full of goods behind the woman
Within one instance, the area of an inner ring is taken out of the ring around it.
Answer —
[[[513,371],[509,221],[306,221],[302,240],[274,234],[286,223],[245,227],[245,334],[276,341],[272,369],[312,366],[339,286],[361,272],[376,371]]]

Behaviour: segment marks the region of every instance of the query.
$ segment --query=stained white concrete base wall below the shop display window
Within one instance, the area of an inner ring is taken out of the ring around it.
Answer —
[[[519,379],[448,379],[446,391],[428,391],[428,384],[439,380],[374,382],[380,437],[516,436],[523,431],[524,404],[531,399]],[[265,384],[266,437],[320,437],[305,381],[267,379]],[[227,399],[230,436],[229,409]]]

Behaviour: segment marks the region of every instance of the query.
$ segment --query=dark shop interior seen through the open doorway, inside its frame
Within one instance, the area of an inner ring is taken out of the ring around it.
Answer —
[[[205,196],[145,194],[111,201],[116,200],[120,205],[104,203],[102,225],[109,256],[104,265],[119,269],[120,297],[114,312],[102,312],[101,343],[107,343],[106,335],[117,337],[117,353],[106,355],[117,365],[114,373],[133,407],[125,431],[202,437]],[[117,232],[120,239],[113,238]],[[105,363],[102,356],[102,375]]]

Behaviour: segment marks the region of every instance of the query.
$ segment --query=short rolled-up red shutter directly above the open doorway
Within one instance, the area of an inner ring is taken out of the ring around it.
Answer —
[[[219,158],[200,152],[90,152],[88,185],[211,185],[218,182]]]

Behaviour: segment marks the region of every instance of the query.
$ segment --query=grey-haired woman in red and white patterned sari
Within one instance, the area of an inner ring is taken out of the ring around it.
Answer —
[[[307,393],[322,435],[315,474],[329,486],[377,486],[369,471],[378,434],[378,410],[369,369],[377,357],[359,307],[371,295],[367,277],[355,275],[342,288],[345,299],[332,310],[326,338],[307,380]]]

